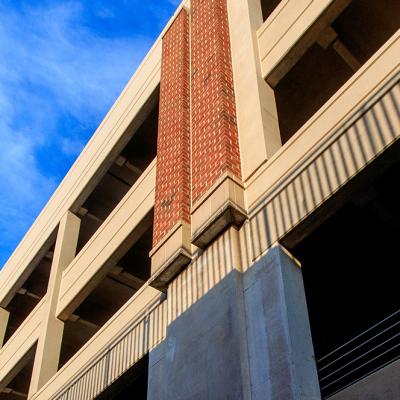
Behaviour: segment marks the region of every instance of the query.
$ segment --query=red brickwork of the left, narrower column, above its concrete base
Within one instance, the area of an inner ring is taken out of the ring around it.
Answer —
[[[190,221],[189,17],[182,10],[163,38],[153,246]]]

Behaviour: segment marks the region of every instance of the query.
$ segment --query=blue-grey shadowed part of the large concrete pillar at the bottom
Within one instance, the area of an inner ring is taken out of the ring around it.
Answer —
[[[148,398],[320,399],[301,270],[283,248],[171,323],[150,354]]]

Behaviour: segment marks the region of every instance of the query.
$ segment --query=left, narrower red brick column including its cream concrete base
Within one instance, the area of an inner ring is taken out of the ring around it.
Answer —
[[[153,286],[191,259],[189,16],[182,9],[163,37],[152,257]]]

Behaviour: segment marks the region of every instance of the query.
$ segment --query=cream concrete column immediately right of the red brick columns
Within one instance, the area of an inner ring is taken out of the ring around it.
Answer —
[[[263,23],[261,2],[228,0],[228,16],[242,175],[246,181],[281,147],[281,137],[274,90],[261,74],[257,40],[257,30]]]

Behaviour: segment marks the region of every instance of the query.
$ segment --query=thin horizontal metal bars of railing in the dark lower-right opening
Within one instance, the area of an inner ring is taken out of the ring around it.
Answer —
[[[400,310],[317,360],[323,399],[400,359]]]

